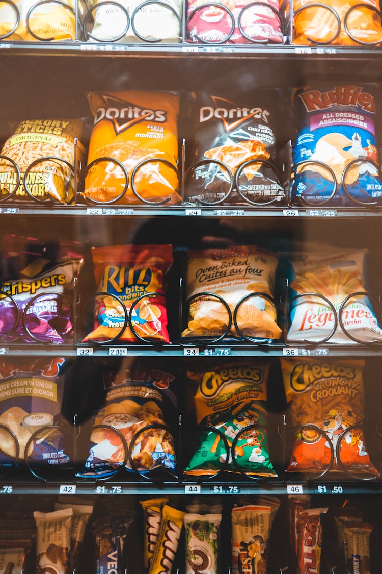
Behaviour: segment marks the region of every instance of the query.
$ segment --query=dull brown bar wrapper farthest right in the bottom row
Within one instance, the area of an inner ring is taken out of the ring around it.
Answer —
[[[369,538],[373,530],[370,524],[362,522],[344,526],[346,544],[346,565],[351,572],[357,574],[370,574]]]

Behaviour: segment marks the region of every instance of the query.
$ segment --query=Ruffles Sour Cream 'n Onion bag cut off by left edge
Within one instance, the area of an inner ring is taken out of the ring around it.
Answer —
[[[19,460],[25,458],[30,437],[40,431],[30,445],[33,463],[61,466],[70,462],[64,436],[59,429],[45,427],[60,422],[65,359],[0,360],[0,426],[9,428],[19,447]],[[13,436],[0,428],[0,468],[14,463],[17,448]]]

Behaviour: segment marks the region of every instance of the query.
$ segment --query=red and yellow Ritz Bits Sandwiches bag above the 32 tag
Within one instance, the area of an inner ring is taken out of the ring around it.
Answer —
[[[164,298],[164,274],[172,263],[171,245],[116,245],[92,248],[97,295],[94,301],[94,330],[84,339],[108,341],[118,336],[119,342],[137,342],[127,323],[132,304],[145,293],[132,311],[132,323],[142,338],[170,343],[167,332],[167,309]],[[117,296],[124,302],[126,312]],[[123,332],[121,332],[123,329]]]

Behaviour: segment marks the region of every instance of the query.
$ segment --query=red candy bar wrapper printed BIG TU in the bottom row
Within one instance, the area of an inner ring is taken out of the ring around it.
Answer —
[[[298,565],[300,574],[320,574],[321,572],[321,514],[327,512],[327,508],[312,508],[302,511],[298,517]]]

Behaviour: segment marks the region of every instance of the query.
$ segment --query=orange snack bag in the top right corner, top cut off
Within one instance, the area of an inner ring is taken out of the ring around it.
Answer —
[[[305,7],[294,17],[293,44],[313,45],[314,42],[320,42],[320,44],[340,46],[360,45],[349,36],[344,25],[346,13],[355,5],[358,7],[351,10],[346,21],[349,32],[362,42],[382,42],[381,18],[367,7],[370,5],[379,9],[379,2],[376,0],[365,0],[363,2],[365,6],[360,6],[359,0],[325,0],[325,5],[336,11],[341,20],[341,30],[337,38],[334,38],[338,32],[335,15],[330,10],[317,5],[311,8],[306,7],[312,2],[314,0],[294,0],[293,2],[294,13],[302,6]]]

